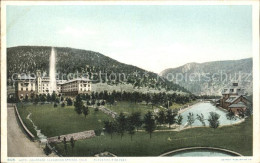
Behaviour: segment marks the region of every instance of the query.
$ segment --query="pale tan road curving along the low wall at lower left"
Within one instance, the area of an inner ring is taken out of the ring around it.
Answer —
[[[32,142],[21,130],[14,107],[7,109],[7,156],[46,157],[38,142]]]

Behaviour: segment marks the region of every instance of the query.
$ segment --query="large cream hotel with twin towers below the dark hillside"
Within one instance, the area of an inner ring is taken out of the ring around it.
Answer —
[[[26,95],[30,97],[32,94],[52,94],[52,90],[50,78],[42,77],[39,71],[36,73],[36,78],[20,77],[15,86],[15,92],[20,99]],[[91,81],[87,78],[56,80],[55,92],[66,96],[89,93],[91,92]]]

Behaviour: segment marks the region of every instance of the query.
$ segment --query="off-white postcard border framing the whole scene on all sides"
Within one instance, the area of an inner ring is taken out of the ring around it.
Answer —
[[[7,162],[7,104],[6,104],[6,5],[252,5],[253,23],[253,92],[254,92],[254,143],[253,157],[117,157],[117,158],[50,158],[50,157],[9,157],[14,162],[260,162],[260,125],[259,125],[259,2],[258,1],[1,1],[1,162]],[[19,161],[25,159],[24,161]],[[67,160],[66,160],[67,159]],[[37,161],[38,160],[38,161]],[[69,161],[70,160],[70,161]],[[12,161],[13,162],[13,161]]]

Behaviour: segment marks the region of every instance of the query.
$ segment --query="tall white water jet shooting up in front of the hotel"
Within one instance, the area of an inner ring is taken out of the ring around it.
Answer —
[[[51,48],[51,56],[50,56],[50,93],[53,91],[56,92],[56,57],[55,57],[55,50]]]

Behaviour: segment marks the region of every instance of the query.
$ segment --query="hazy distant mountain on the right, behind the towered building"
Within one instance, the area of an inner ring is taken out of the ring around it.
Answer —
[[[160,75],[197,95],[220,95],[221,90],[233,81],[243,86],[248,94],[252,94],[252,66],[252,58],[206,63],[193,62],[166,69]]]

